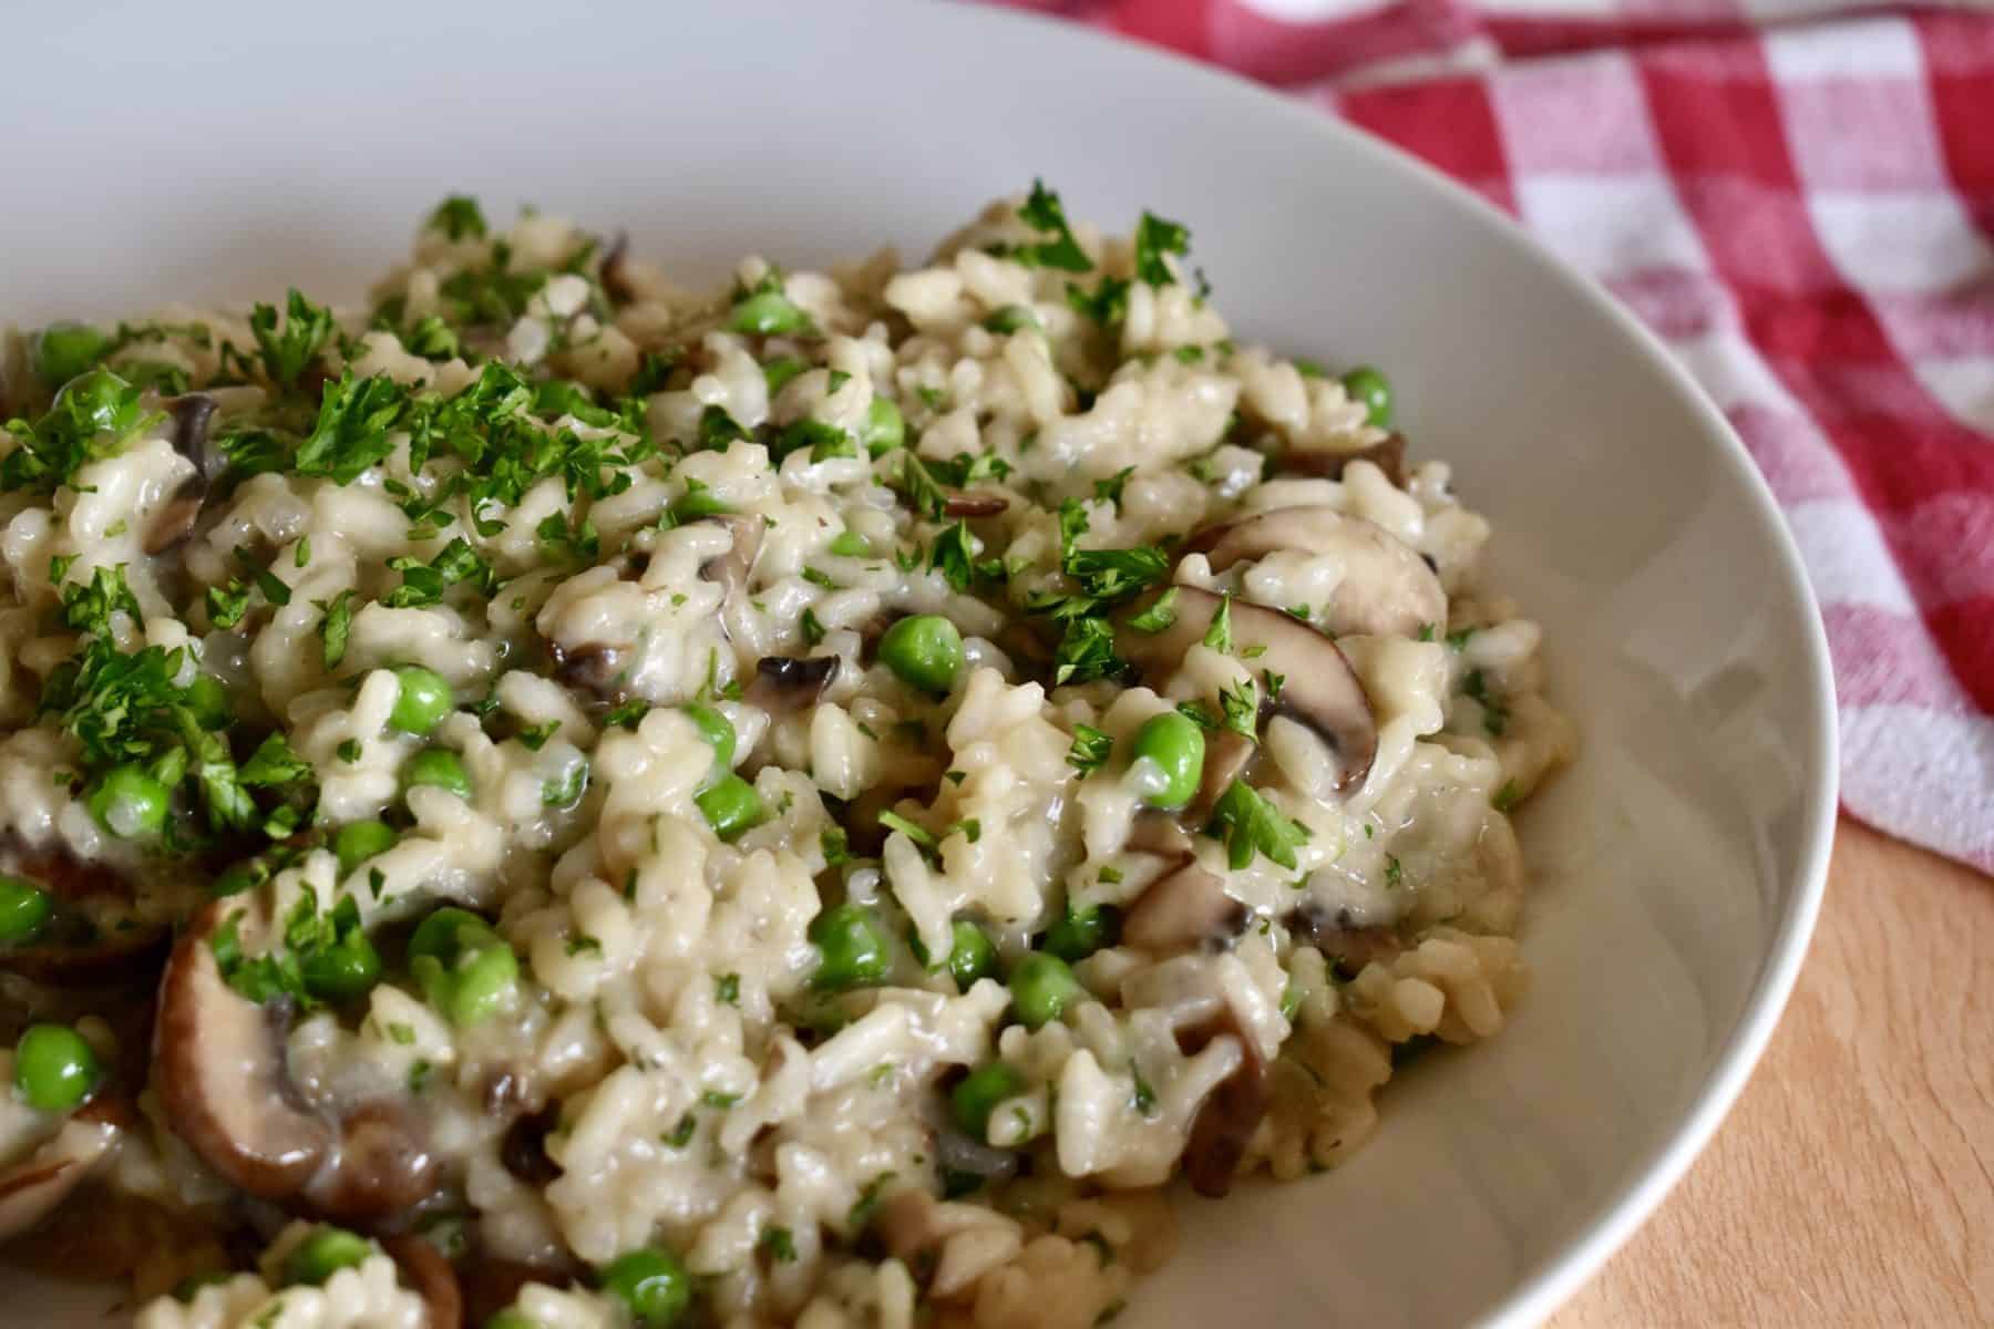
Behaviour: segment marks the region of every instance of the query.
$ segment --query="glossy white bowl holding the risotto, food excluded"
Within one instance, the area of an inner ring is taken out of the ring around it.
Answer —
[[[0,84],[0,315],[357,297],[447,191],[716,277],[921,251],[1033,175],[1192,225],[1242,337],[1374,361],[1543,622],[1583,755],[1523,815],[1535,986],[1336,1174],[1188,1201],[1125,1323],[1549,1313],[1717,1128],[1807,948],[1834,815],[1819,616],[1773,500],[1633,321],[1466,191],[1306,106],[1009,14],[341,0],[28,6]],[[20,1323],[104,1297],[10,1287]],[[74,1319],[72,1319],[74,1317]]]

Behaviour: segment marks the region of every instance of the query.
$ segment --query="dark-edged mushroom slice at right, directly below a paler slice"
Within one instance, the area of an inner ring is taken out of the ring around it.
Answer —
[[[1182,664],[1184,652],[1204,640],[1224,604],[1196,586],[1172,586],[1163,594],[1170,592],[1176,594],[1176,620],[1168,628],[1147,634],[1125,626],[1115,634],[1121,654],[1155,679]],[[1378,755],[1378,717],[1336,642],[1290,614],[1258,604],[1234,600],[1230,618],[1234,650],[1262,648],[1254,665],[1282,675],[1274,713],[1288,715],[1328,743],[1342,767],[1338,789],[1360,783]]]

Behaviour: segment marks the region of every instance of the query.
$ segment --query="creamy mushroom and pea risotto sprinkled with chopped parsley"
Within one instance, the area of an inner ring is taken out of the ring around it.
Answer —
[[[1085,1329],[1521,996],[1539,632],[1172,221],[0,369],[0,1237],[142,1329]]]

